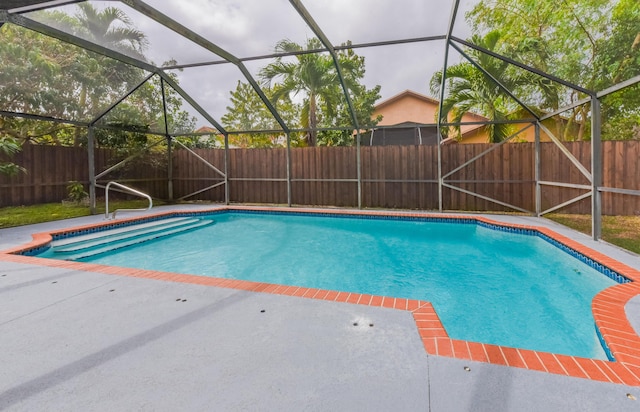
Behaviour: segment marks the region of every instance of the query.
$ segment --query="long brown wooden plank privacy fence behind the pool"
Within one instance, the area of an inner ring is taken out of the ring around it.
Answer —
[[[588,142],[566,143],[565,147],[588,170],[591,152]],[[478,157],[489,149],[490,152]],[[435,146],[361,147],[360,179],[355,147],[294,148],[291,150],[291,203],[295,205],[358,206],[360,187],[366,208],[437,210],[438,153]],[[225,170],[225,153],[220,149],[194,152],[219,171]],[[96,150],[96,173],[115,164],[113,150]],[[640,190],[640,142],[603,142],[603,187]],[[477,160],[464,165],[466,162]],[[237,203],[287,204],[286,149],[229,150],[229,200]],[[13,159],[28,170],[15,177],[0,176],[0,206],[57,202],[66,197],[69,181],[88,184],[88,155],[85,149],[25,146]],[[101,178],[117,180],[167,199],[168,162],[149,162],[144,157],[127,163]],[[176,149],[172,159],[173,198],[224,202],[224,176],[193,153]],[[542,143],[540,181],[541,210],[550,209],[588,193],[589,180],[553,143]],[[459,170],[458,170],[459,169]],[[507,205],[535,211],[535,145],[514,143],[446,145],[442,147],[443,209],[466,211],[509,211]],[[360,181],[360,185],[359,185]],[[585,188],[563,184],[584,185]],[[205,190],[206,189],[206,190]],[[193,196],[189,196],[197,193]],[[472,193],[476,194],[475,196]],[[103,192],[98,190],[98,196]],[[494,199],[492,202],[489,199]],[[563,209],[568,213],[590,213],[590,198]],[[603,193],[603,213],[640,213],[640,197]]]

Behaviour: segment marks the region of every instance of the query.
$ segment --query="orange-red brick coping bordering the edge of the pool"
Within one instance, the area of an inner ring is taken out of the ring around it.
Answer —
[[[416,327],[418,329],[418,334],[422,339],[424,349],[430,355],[446,356],[457,359],[466,359],[497,365],[525,368],[558,375],[591,379],[595,381],[640,386],[640,336],[636,334],[633,327],[627,320],[624,310],[626,303],[631,298],[636,295],[640,295],[640,271],[633,269],[623,263],[620,263],[602,253],[594,251],[550,229],[537,226],[517,225],[511,223],[507,224],[481,216],[402,213],[388,211],[351,211],[340,209],[283,209],[273,207],[243,206],[222,207],[202,211],[171,211],[154,215],[146,215],[141,218],[121,219],[115,221],[115,223],[135,222],[140,219],[191,215],[222,210],[254,210],[269,212],[280,211],[323,214],[330,213],[341,215],[393,216],[411,218],[424,217],[440,219],[472,219],[478,222],[484,222],[502,227],[536,230],[574,249],[575,251],[583,254],[593,261],[598,262],[621,275],[624,275],[631,280],[631,282],[629,283],[618,284],[603,290],[595,296],[591,305],[595,323],[616,361],[610,362],[547,352],[538,352],[528,349],[517,349],[506,346],[451,339],[447,334],[445,328],[443,327],[433,305],[429,302],[420,300],[400,299],[388,296],[373,296],[359,293],[348,293],[298,286],[275,285],[245,280],[212,278],[141,269],[120,268],[91,263],[29,257],[17,254],[26,250],[47,245],[49,242],[51,242],[52,235],[101,226],[112,226],[114,224],[114,221],[74,227],[61,231],[52,231],[49,233],[34,234],[33,240],[30,243],[12,249],[0,251],[0,260],[16,263],[34,264],[39,266],[59,267],[87,272],[98,272],[118,276],[131,276],[137,278],[182,282],[197,285],[239,289],[250,292],[297,296],[309,299],[345,302],[357,305],[403,310],[411,312],[411,314],[413,315]]]

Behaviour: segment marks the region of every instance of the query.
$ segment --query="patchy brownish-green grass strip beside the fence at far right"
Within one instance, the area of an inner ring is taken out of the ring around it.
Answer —
[[[552,213],[545,217],[579,232],[591,234],[591,215]],[[640,216],[602,216],[602,240],[640,254]]]

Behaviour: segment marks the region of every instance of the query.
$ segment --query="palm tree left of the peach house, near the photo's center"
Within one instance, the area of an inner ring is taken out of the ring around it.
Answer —
[[[304,50],[318,50],[323,46],[318,39],[307,40],[303,49],[291,40],[281,40],[276,44],[277,52],[292,53]],[[307,142],[315,146],[317,142],[316,128],[319,123],[318,105],[324,105],[326,113],[331,116],[340,99],[338,75],[333,60],[321,53],[305,53],[296,56],[296,62],[284,61],[278,57],[274,63],[260,71],[260,78],[265,86],[272,87],[275,101],[290,95],[305,95],[302,108],[302,127],[308,128]],[[281,83],[274,83],[280,79]]]

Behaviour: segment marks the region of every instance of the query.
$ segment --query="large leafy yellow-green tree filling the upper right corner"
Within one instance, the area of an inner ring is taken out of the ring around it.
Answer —
[[[633,45],[636,39],[640,44],[640,3],[635,0],[489,0],[479,2],[466,17],[475,34],[492,30],[503,33],[504,41],[497,52],[590,90],[603,90],[639,72],[640,49]],[[537,106],[543,111],[555,111],[586,97],[554,86],[546,90],[529,88],[529,95],[538,98]],[[625,97],[632,96],[637,92],[628,92]],[[603,108],[603,122],[608,123],[604,138],[629,135],[633,125],[627,122],[616,126],[616,116],[618,120],[631,116],[639,125],[639,104],[633,98],[631,101],[635,106],[631,111],[626,99],[614,105],[618,109]],[[578,123],[577,135],[565,127],[558,136],[566,140],[587,138],[589,117],[588,105],[573,109],[564,118],[566,122],[557,124]]]

